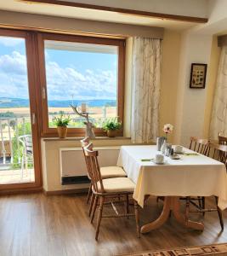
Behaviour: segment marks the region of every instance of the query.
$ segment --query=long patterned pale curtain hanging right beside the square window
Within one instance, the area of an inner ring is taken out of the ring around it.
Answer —
[[[133,38],[132,122],[133,143],[150,143],[158,134],[161,40]]]

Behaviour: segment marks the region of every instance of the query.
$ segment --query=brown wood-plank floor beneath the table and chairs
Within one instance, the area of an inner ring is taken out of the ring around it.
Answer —
[[[140,239],[133,218],[105,218],[97,242],[85,201],[85,195],[1,196],[0,255],[114,255],[227,241],[227,226],[219,233],[217,212],[207,212],[202,233],[186,230],[174,218],[169,218],[161,229]],[[156,204],[156,198],[151,197],[141,211],[141,223],[155,219],[161,210],[162,201]],[[226,212],[224,221],[227,223]]]

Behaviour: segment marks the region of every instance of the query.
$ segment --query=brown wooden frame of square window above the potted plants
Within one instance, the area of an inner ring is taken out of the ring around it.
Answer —
[[[38,42],[38,66],[40,73],[40,103],[42,106],[41,122],[41,137],[58,137],[57,129],[48,127],[48,95],[45,67],[45,52],[44,41],[63,41],[87,44],[104,44],[114,45],[118,47],[118,70],[117,70],[117,116],[122,121],[122,129],[117,131],[117,136],[123,136],[123,116],[124,116],[124,82],[125,82],[125,39],[115,38],[96,38],[88,36],[65,35],[39,32],[37,34]],[[84,128],[68,128],[67,137],[83,137]],[[94,133],[97,137],[105,137],[106,132],[101,128],[94,128]]]

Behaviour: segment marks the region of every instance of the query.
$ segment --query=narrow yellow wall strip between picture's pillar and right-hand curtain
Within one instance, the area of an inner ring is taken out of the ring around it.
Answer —
[[[211,121],[211,114],[213,108],[213,96],[216,88],[216,80],[218,74],[218,62],[220,57],[221,48],[218,47],[218,37],[213,36],[211,57],[209,61],[209,74],[207,76],[207,100],[204,114],[203,137],[209,137],[209,127]]]

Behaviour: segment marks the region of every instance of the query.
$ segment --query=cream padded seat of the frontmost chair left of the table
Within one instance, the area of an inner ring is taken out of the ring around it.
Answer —
[[[104,179],[103,186],[106,193],[133,192],[135,183],[129,177],[112,177]],[[98,183],[98,190],[101,192],[100,183]]]

